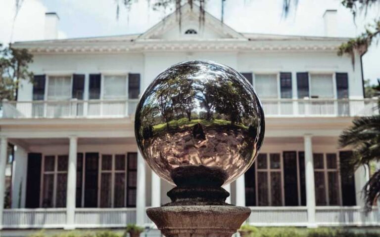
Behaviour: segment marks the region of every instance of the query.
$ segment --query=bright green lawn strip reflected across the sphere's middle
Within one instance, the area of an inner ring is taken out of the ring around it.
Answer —
[[[224,119],[212,119],[212,120],[206,120],[206,119],[191,119],[189,121],[188,118],[180,118],[178,120],[171,120],[169,122],[169,130],[174,129],[174,128],[186,128],[186,127],[192,127],[197,123],[202,124],[203,126],[210,127],[210,126],[226,126],[226,125],[231,125],[231,121],[227,121]],[[244,126],[242,124],[234,124],[235,126],[238,126],[242,129],[248,129],[247,126]],[[161,131],[166,130],[166,123],[160,123],[157,125],[153,126],[153,132],[159,133]]]

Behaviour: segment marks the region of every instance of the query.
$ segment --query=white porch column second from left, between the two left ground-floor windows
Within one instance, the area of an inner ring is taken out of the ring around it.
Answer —
[[[75,201],[77,187],[77,137],[70,137],[69,164],[67,170],[66,196],[66,226],[65,229],[75,229]]]

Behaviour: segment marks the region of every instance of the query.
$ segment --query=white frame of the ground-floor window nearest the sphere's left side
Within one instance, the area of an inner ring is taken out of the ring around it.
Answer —
[[[125,164],[125,167],[124,167],[124,170],[116,170],[115,169],[115,159],[116,159],[116,156],[119,156],[119,155],[123,155],[124,156],[124,164]],[[111,170],[103,170],[102,169],[102,158],[103,156],[111,156]],[[125,182],[124,182],[124,207],[127,206],[127,178],[128,178],[128,169],[127,169],[127,166],[128,166],[128,163],[127,163],[127,157],[128,157],[128,154],[127,153],[122,153],[122,154],[108,154],[108,153],[103,153],[103,154],[99,154],[99,165],[98,165],[98,176],[97,176],[97,207],[100,208],[100,198],[101,198],[101,174],[103,173],[108,173],[108,174],[111,174],[111,206],[109,208],[113,208],[114,207],[114,202],[115,202],[115,174],[117,173],[124,173],[124,178],[125,178]]]

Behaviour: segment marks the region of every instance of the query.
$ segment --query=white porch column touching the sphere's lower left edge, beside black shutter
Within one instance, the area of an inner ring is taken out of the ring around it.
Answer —
[[[137,153],[136,224],[144,225],[145,217],[145,163],[140,151]]]

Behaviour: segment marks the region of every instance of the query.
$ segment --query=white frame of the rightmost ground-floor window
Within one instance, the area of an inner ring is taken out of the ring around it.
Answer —
[[[328,172],[336,172],[337,174],[337,182],[338,182],[338,206],[342,205],[342,188],[341,188],[341,177],[340,177],[340,170],[339,170],[339,152],[313,152],[314,154],[323,154],[323,169],[322,168],[315,168],[314,164],[314,172],[324,172],[325,177],[325,198],[326,198],[326,206],[330,206],[330,197],[329,197],[329,175]],[[327,167],[327,154],[335,154],[336,156],[336,168],[328,168]]]

